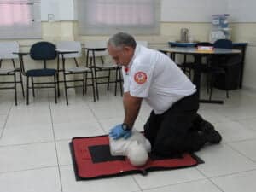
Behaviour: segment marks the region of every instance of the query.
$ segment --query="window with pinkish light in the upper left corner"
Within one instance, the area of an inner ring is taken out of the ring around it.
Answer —
[[[41,38],[40,1],[0,0],[0,38]]]

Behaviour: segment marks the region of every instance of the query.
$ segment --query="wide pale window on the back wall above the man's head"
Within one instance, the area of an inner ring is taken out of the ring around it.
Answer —
[[[79,33],[159,32],[159,0],[78,0]]]

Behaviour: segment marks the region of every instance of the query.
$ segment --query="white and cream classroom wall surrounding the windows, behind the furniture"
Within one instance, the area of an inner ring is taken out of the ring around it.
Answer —
[[[60,40],[84,42],[86,40],[108,39],[108,36],[79,36],[76,30],[77,21],[75,21],[76,13],[73,10],[75,6],[73,0],[44,0],[41,2],[43,39],[52,42]],[[244,87],[256,90],[256,14],[252,10],[256,6],[255,2],[244,0],[241,4],[238,0],[194,0],[193,3],[195,4],[191,5],[187,0],[162,0],[160,35],[136,36],[137,40],[148,40],[149,44],[167,44],[168,41],[178,40],[180,29],[186,27],[189,28],[192,40],[207,41],[211,31],[211,15],[214,13],[231,13],[232,40],[249,43],[244,71]],[[191,17],[191,20],[188,20],[188,17],[181,17],[179,14],[180,12],[184,15],[182,9],[189,10],[189,8],[194,10],[190,11],[189,14],[195,15]],[[203,8],[206,9],[200,11]],[[249,13],[246,13],[247,9],[250,10]],[[174,10],[176,10],[176,14]],[[48,14],[52,13],[55,15],[55,21],[49,22]],[[176,20],[173,19],[173,15],[177,16]],[[203,16],[200,17],[200,15]],[[178,18],[180,18],[179,21],[177,21]],[[22,40],[20,44],[24,45],[22,49],[27,49],[35,41],[38,39]]]

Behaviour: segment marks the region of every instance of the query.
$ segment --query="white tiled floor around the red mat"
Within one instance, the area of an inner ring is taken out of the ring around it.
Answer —
[[[3,93],[5,92],[5,93]],[[205,164],[187,169],[149,172],[76,182],[68,143],[72,137],[108,133],[123,120],[122,98],[102,90],[99,102],[91,94],[69,91],[58,104],[51,93],[38,90],[29,106],[13,93],[0,95],[0,191],[2,192],[255,192],[256,93],[214,90],[224,105],[201,104],[200,113],[220,131],[223,142],[197,154]],[[150,108],[143,103],[137,130],[143,130]]]

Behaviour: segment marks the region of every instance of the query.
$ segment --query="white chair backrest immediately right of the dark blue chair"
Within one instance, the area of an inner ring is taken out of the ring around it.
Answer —
[[[82,46],[78,41],[61,41],[56,44],[56,48],[78,51],[78,53],[64,54],[64,58],[79,58],[82,56]]]

